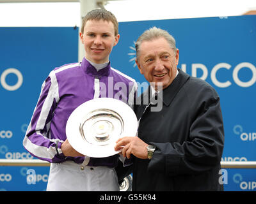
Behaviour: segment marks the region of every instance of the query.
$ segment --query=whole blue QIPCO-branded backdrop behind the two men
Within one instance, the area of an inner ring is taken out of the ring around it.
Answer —
[[[256,16],[120,23],[111,66],[139,85],[145,78],[135,65],[134,41],[152,26],[166,29],[177,41],[178,67],[203,78],[220,95],[225,126],[222,161],[256,161]],[[77,43],[73,27],[0,28],[0,159],[32,158],[22,140],[40,87],[54,67],[77,61]],[[44,190],[49,168],[32,168],[36,184],[27,182],[29,169],[0,167],[0,190]],[[256,191],[255,169],[227,169],[220,176],[226,191]]]

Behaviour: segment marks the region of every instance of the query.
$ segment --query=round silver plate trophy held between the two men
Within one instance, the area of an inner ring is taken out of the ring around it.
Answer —
[[[77,152],[89,157],[108,157],[116,140],[136,136],[138,121],[133,110],[113,98],[96,98],[78,106],[70,115],[66,135]]]

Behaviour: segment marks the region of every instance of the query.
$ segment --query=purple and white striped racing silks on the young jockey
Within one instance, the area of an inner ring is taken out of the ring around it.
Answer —
[[[32,156],[50,163],[72,160],[88,166],[114,167],[118,155],[104,158],[65,157],[60,147],[67,138],[67,120],[77,106],[93,98],[116,98],[133,108],[137,88],[134,79],[111,68],[110,62],[99,71],[85,58],[82,62],[55,68],[42,85],[23,140],[25,149]]]

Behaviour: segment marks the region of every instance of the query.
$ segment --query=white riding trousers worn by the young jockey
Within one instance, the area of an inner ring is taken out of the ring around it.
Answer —
[[[47,191],[119,191],[115,168],[52,163]]]

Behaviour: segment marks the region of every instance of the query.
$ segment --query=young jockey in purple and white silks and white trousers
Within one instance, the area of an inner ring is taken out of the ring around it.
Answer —
[[[35,157],[49,161],[47,191],[118,191],[115,166],[119,155],[93,158],[74,150],[67,140],[68,117],[82,103],[93,98],[122,96],[133,104],[136,82],[111,68],[109,55],[118,43],[118,22],[106,10],[90,11],[80,33],[85,56],[82,62],[55,68],[42,85],[24,147]],[[108,83],[122,82],[124,91],[109,89]],[[107,89],[100,89],[100,84]],[[104,91],[104,93],[103,93]]]

